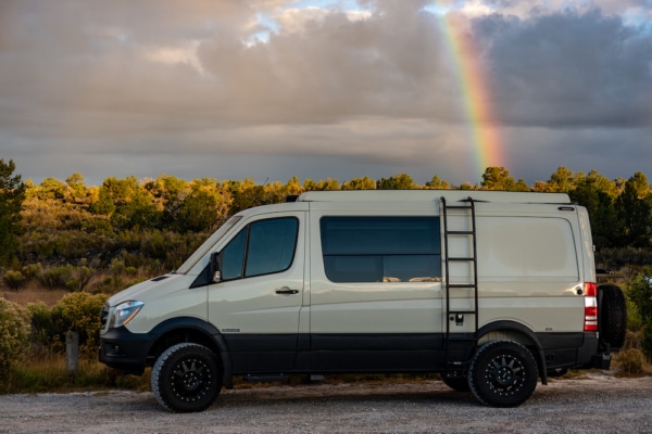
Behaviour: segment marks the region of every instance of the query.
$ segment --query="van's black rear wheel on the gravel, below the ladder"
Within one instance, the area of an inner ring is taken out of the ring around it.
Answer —
[[[516,407],[537,387],[537,362],[529,349],[513,341],[482,345],[468,368],[473,395],[491,407]]]

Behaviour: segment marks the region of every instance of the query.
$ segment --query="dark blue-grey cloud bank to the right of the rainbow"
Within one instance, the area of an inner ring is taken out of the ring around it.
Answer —
[[[652,125],[652,38],[593,10],[476,24],[500,117],[551,127]]]

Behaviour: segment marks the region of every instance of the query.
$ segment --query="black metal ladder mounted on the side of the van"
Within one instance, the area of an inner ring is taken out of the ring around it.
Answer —
[[[478,258],[475,202],[469,196],[462,204],[449,205],[441,197],[444,246],[446,291],[446,361],[447,375],[463,376],[478,332]],[[454,266],[459,264],[460,266]],[[451,276],[451,266],[462,276]],[[461,303],[461,301],[465,301]],[[462,306],[465,304],[465,306]],[[473,317],[471,330],[454,333],[451,327],[463,327]]]

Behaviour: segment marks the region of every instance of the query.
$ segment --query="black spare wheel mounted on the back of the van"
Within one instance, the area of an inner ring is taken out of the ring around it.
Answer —
[[[600,341],[613,348],[625,343],[627,332],[627,304],[620,288],[613,284],[598,286]]]

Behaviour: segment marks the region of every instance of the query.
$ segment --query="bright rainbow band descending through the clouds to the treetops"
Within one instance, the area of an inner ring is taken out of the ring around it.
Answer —
[[[443,7],[441,1],[435,3],[436,7]],[[454,71],[459,74],[462,108],[471,128],[475,167],[479,174],[484,174],[487,167],[505,167],[502,137],[492,113],[491,92],[481,56],[454,13],[438,15],[441,16],[442,31]]]

